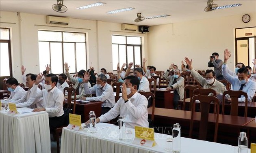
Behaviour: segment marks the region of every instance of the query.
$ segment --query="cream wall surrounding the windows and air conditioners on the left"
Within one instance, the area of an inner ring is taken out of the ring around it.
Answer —
[[[13,77],[21,82],[20,67],[26,67],[25,73],[39,72],[38,30],[56,30],[69,32],[85,32],[87,34],[87,68],[92,65],[95,72],[106,68],[112,72],[111,35],[143,36],[139,32],[121,30],[121,24],[102,21],[69,19],[68,26],[46,24],[45,15],[28,13],[12,13],[1,11],[1,27],[11,28],[11,54],[13,62]],[[8,23],[7,23],[8,22]],[[13,24],[15,23],[15,24]],[[59,27],[54,27],[59,26]],[[147,43],[143,44],[143,56]]]

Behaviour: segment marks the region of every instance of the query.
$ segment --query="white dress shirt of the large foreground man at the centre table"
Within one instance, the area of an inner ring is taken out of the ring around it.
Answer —
[[[126,127],[148,127],[147,107],[147,98],[136,92],[126,103],[124,103],[123,98],[120,98],[115,106],[104,115],[101,115],[99,119],[100,122],[107,122],[120,115],[124,116]]]

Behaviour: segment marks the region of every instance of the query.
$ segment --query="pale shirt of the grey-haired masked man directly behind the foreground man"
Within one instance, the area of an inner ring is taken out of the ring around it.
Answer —
[[[86,100],[90,101],[101,101],[102,107],[112,108],[115,105],[115,96],[113,87],[105,83],[104,87],[100,89],[97,85],[88,88],[88,83],[85,83],[84,92],[85,94],[96,94],[96,97],[87,97]]]

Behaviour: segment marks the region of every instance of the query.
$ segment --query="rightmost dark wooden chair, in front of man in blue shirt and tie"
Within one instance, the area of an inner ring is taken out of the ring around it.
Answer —
[[[248,104],[248,96],[247,93],[239,90],[239,91],[233,91],[233,90],[227,90],[224,91],[222,94],[222,114],[224,115],[224,107],[225,107],[225,95],[229,95],[231,98],[231,110],[230,115],[232,116],[238,116],[238,98],[239,96],[243,95],[245,96],[245,115],[244,117],[247,117],[247,104]]]

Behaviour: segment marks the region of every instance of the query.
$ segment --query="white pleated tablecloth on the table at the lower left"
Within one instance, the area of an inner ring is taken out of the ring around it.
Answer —
[[[0,123],[1,153],[51,152],[48,113],[11,115],[1,110]]]

